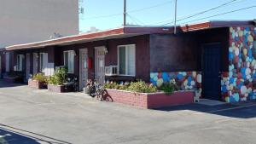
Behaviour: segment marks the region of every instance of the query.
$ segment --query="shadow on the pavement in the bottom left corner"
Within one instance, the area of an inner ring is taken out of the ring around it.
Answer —
[[[39,144],[38,141],[49,144],[72,144],[49,136],[0,124],[0,144]]]

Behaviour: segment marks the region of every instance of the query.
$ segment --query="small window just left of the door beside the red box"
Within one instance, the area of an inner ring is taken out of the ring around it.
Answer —
[[[64,51],[64,66],[67,66],[67,72],[74,72],[74,51]]]

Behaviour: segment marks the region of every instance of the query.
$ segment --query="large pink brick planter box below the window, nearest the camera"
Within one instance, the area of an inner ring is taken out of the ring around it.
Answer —
[[[143,108],[170,107],[175,105],[189,104],[194,102],[194,91],[177,91],[172,95],[163,92],[158,93],[137,93],[125,90],[107,89],[108,96],[113,102]]]

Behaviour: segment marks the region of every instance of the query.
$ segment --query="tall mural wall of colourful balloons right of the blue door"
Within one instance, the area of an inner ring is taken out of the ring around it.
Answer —
[[[224,101],[256,99],[255,36],[255,27],[230,27],[229,72],[222,73],[221,81]]]

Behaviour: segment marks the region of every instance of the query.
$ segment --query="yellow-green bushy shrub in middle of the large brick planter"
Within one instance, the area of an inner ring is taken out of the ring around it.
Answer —
[[[140,93],[154,93],[157,91],[157,88],[153,84],[146,84],[139,80],[138,82],[131,82],[128,86],[128,90]]]

